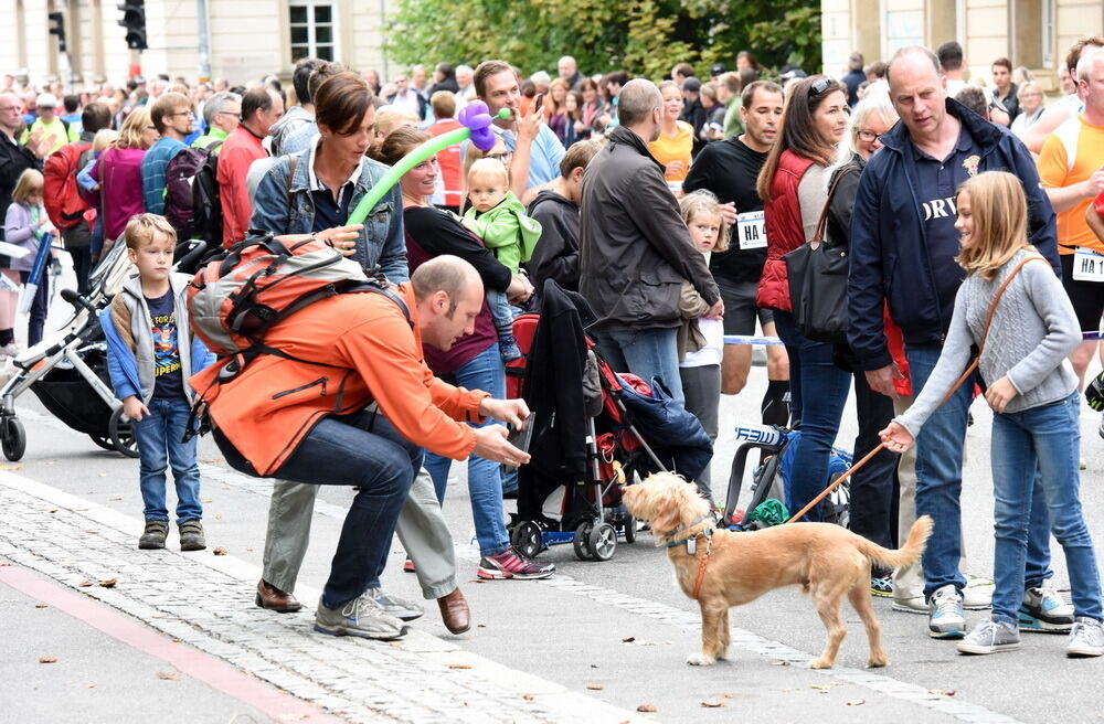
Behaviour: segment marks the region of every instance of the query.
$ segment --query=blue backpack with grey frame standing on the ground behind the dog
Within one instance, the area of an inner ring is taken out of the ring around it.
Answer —
[[[785,503],[788,511],[796,512],[790,494],[794,455],[800,438],[800,430],[784,427],[737,427],[736,439],[745,440],[737,449],[732,460],[732,475],[729,478],[729,492],[725,498],[724,525],[744,528],[763,528],[761,521],[751,521],[750,517],[766,500],[777,500]],[[744,469],[747,455],[754,449],[762,450],[760,466],[752,472],[752,499],[745,511],[736,510],[736,501],[743,487]],[[834,447],[828,459],[828,479],[825,487],[835,482],[851,467],[852,457],[847,450]],[[822,520],[826,523],[848,526],[850,522],[850,489],[849,481],[840,483],[820,503]],[[747,525],[745,525],[747,523]]]

